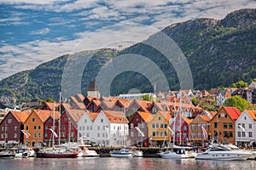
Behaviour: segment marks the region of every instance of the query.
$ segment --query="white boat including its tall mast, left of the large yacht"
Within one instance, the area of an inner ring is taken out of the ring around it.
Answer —
[[[170,140],[172,138],[172,134],[173,134],[173,145],[172,145],[172,150],[166,150],[166,151],[162,151],[160,152],[160,156],[162,158],[165,159],[184,159],[184,158],[195,158],[196,153],[194,152],[192,147],[189,146],[181,146],[181,99],[179,100],[179,146],[175,145],[175,129],[174,131],[172,131],[171,127],[167,127],[170,131],[171,131],[171,137]],[[171,122],[169,122],[170,126],[172,124],[172,122],[174,122],[173,127],[175,128],[175,124],[176,124],[176,120],[177,120],[177,116],[175,116],[175,118],[173,118],[173,120]],[[170,142],[171,143],[171,142]]]

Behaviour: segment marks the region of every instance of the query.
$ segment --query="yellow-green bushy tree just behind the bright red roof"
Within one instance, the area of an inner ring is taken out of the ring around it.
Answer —
[[[255,109],[255,107],[250,102],[248,102],[246,99],[242,99],[238,95],[226,99],[224,105],[236,107],[239,109],[239,111]]]

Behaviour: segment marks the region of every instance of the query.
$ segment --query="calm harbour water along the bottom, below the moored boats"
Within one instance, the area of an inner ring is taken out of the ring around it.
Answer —
[[[23,159],[0,159],[0,170],[16,169],[212,169],[212,170],[250,170],[256,169],[256,161],[195,161],[187,160],[166,160],[161,158],[70,158],[70,159],[44,159],[44,158],[23,158]]]

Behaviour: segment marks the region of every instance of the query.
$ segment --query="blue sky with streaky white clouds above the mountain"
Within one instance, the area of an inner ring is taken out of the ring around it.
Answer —
[[[0,0],[0,80],[63,54],[125,48],[166,26],[221,20],[254,0]]]

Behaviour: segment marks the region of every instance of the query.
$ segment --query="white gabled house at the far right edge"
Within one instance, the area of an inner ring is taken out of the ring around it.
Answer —
[[[256,111],[243,111],[236,120],[236,144],[256,145]]]

